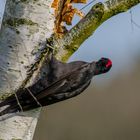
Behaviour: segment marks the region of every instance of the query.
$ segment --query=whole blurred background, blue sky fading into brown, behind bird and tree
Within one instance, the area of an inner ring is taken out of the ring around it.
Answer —
[[[113,67],[79,96],[43,108],[34,140],[140,140],[139,13],[140,5],[107,20],[69,59],[108,57]],[[75,16],[73,26],[79,20]]]

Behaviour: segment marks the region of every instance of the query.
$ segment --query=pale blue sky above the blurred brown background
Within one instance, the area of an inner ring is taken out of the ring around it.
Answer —
[[[91,0],[88,0],[88,3],[89,2],[91,2]],[[96,2],[97,1],[94,3]],[[92,3],[91,6],[94,3]],[[0,0],[0,15],[3,14],[4,4],[5,0]],[[81,9],[85,5],[75,4],[74,6]],[[83,12],[86,14],[91,6],[85,8]],[[119,74],[127,74],[133,70],[135,65],[137,65],[136,57],[140,53],[140,28],[131,23],[131,17],[140,25],[140,5],[133,7],[131,13],[132,14],[130,14],[129,10],[104,22],[96,32],[81,45],[78,51],[72,55],[69,61],[95,61],[101,57],[110,58],[113,62],[112,70],[103,76],[99,76],[97,83],[98,81],[105,83],[106,81],[110,81],[108,79]],[[80,18],[75,16],[72,26],[79,20]]]

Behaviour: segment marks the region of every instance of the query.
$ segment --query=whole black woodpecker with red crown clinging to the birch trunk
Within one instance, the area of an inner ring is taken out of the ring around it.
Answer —
[[[52,57],[47,80],[38,80],[34,85],[17,91],[16,96],[13,94],[3,100],[0,107],[8,106],[0,112],[0,116],[47,106],[77,96],[89,86],[93,76],[106,73],[111,67],[112,62],[108,58],[91,63],[63,63]]]

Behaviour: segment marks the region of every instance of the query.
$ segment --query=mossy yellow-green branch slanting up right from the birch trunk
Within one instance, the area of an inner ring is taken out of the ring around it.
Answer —
[[[67,60],[103,22],[119,13],[126,12],[139,3],[140,0],[108,0],[95,4],[63,38],[56,40],[55,46],[57,48],[59,46],[57,58]],[[60,58],[61,56],[63,57]]]

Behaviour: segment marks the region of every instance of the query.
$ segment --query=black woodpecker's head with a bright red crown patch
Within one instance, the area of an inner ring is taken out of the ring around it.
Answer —
[[[112,61],[108,58],[101,58],[96,62],[95,75],[108,72],[112,67]]]

